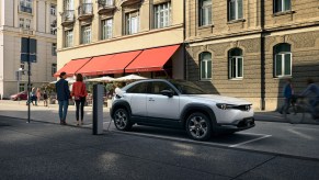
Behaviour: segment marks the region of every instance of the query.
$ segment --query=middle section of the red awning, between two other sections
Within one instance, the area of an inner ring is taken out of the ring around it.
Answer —
[[[141,50],[136,50],[136,52],[93,57],[92,60],[90,60],[77,72],[82,74],[84,76],[123,74],[124,68],[132,60],[134,60],[140,53]]]

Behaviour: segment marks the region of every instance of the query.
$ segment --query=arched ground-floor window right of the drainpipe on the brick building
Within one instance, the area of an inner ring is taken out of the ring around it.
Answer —
[[[274,76],[292,76],[292,46],[287,43],[274,46]]]

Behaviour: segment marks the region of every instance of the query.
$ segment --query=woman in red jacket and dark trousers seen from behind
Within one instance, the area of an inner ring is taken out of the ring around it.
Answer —
[[[77,81],[72,86],[72,97],[75,97],[76,101],[76,117],[77,117],[77,125],[79,124],[79,113],[81,111],[81,125],[83,125],[83,117],[84,117],[84,105],[87,100],[88,91],[86,83],[83,83],[83,76],[81,74],[77,75]]]

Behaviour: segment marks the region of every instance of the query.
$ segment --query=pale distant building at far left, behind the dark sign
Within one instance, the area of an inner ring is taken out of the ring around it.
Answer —
[[[54,80],[56,63],[56,0],[0,1],[0,94],[9,98],[27,88],[27,74],[22,71],[18,85],[15,71],[27,70],[21,61],[22,38],[32,38],[37,63],[32,64],[32,86]]]

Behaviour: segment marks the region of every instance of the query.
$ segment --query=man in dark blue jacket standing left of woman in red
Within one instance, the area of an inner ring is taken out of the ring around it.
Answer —
[[[59,117],[60,124],[67,125],[66,119],[68,113],[69,106],[69,99],[70,99],[70,90],[67,79],[66,72],[60,72],[59,80],[56,82],[56,92],[57,92],[57,100],[59,103]]]

